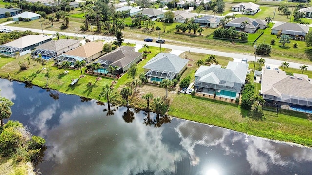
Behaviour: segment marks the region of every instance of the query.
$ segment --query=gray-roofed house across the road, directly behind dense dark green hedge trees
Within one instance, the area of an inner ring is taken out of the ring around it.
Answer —
[[[243,22],[247,21],[247,24],[242,25]],[[258,29],[265,29],[266,28],[266,21],[261,19],[252,19],[248,17],[240,17],[235,18],[225,24],[226,28],[235,27],[236,30],[241,30],[248,33],[255,33]]]

